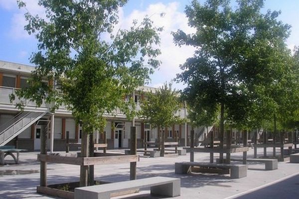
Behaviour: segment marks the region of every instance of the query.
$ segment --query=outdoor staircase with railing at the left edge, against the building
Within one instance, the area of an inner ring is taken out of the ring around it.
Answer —
[[[0,126],[0,146],[4,146],[26,128],[44,116],[46,112],[20,112]]]

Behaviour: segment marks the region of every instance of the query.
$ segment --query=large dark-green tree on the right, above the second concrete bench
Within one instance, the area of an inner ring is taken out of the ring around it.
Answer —
[[[263,107],[257,99],[268,99],[263,88],[268,88],[267,84],[274,83],[289,67],[285,41],[290,26],[277,21],[280,12],[260,13],[264,0],[237,3],[232,9],[230,0],[206,0],[203,5],[193,0],[185,13],[196,33],[172,33],[176,45],[197,48],[194,56],[181,65],[183,72],[177,78],[187,84],[183,92],[186,99],[201,104],[202,108],[194,107],[194,111],[210,111],[215,118],[220,107],[221,148],[225,122],[246,129],[259,125],[259,120],[253,119],[258,115],[253,110],[261,113],[259,109]],[[287,76],[282,77],[285,80]],[[270,100],[265,102],[267,107],[273,104]]]

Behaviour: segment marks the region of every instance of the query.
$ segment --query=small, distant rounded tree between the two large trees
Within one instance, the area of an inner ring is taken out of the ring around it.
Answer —
[[[183,122],[183,119],[181,119],[179,115],[175,115],[176,111],[181,107],[178,92],[171,89],[171,84],[164,84],[164,86],[156,90],[155,93],[149,93],[148,99],[143,100],[141,103],[140,117],[151,124],[152,128],[157,128],[158,130],[161,156],[164,156],[165,134],[162,133],[162,140],[160,140],[160,129]]]

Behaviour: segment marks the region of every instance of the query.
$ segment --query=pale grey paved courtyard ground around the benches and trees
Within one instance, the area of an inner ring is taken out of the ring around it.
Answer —
[[[262,153],[260,149],[258,154],[262,155]],[[37,154],[37,152],[21,153],[19,165],[0,166],[0,199],[54,199],[36,193],[36,186],[39,185]],[[232,154],[232,158],[240,157],[242,153]],[[248,157],[253,157],[253,149],[248,152]],[[8,157],[7,160],[12,162]],[[246,178],[229,179],[227,175],[174,174],[174,163],[181,161],[189,161],[189,153],[186,156],[176,157],[141,157],[140,162],[137,163],[138,179],[152,176],[180,178],[181,196],[176,199],[299,198],[299,164],[279,162],[278,170],[265,171],[264,164],[250,163]],[[195,153],[195,161],[208,162],[209,154]],[[79,181],[79,166],[48,163],[47,170],[48,184]],[[96,180],[120,182],[127,181],[129,178],[129,163],[95,166]],[[149,195],[149,190],[142,190],[139,194],[119,198],[151,199],[154,197]]]

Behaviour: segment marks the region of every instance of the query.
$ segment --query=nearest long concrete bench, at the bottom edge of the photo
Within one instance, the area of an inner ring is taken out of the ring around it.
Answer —
[[[139,180],[109,183],[75,189],[74,199],[110,199],[111,194],[149,188],[150,194],[166,197],[180,196],[180,179],[151,177]]]

